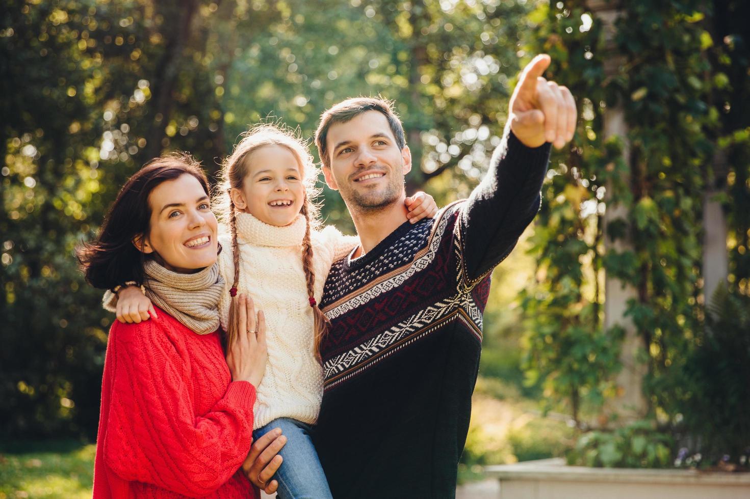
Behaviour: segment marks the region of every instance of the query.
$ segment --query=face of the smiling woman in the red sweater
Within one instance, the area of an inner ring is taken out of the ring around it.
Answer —
[[[151,226],[143,252],[156,252],[160,257],[157,261],[180,273],[197,272],[214,264],[217,222],[198,179],[184,174],[162,182],[149,194],[148,205]]]

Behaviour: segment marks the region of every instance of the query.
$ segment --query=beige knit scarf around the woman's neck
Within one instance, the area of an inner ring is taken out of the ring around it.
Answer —
[[[217,263],[196,273],[177,273],[147,260],[143,270],[145,295],[151,302],[194,333],[208,334],[218,329],[224,280]]]

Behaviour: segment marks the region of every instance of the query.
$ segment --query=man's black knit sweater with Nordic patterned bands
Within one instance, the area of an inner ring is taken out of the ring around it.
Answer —
[[[490,272],[539,209],[549,151],[510,133],[468,200],[333,265],[314,438],[335,499],[455,496]]]

